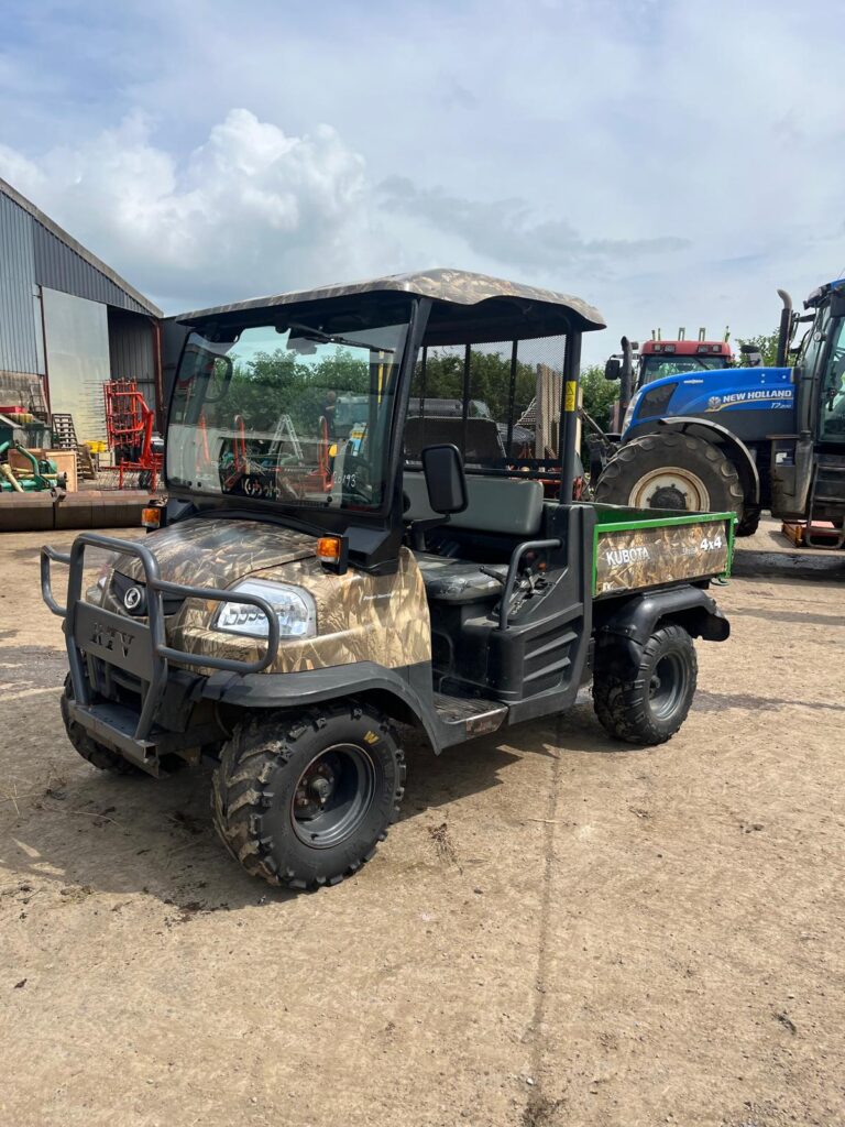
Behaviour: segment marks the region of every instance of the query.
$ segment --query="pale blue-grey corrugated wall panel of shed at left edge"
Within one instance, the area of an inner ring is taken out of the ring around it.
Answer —
[[[0,193],[0,372],[43,374],[33,222]]]

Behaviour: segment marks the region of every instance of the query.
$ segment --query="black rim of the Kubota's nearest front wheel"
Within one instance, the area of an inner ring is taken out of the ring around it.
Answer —
[[[294,833],[311,849],[346,841],[366,818],[375,790],[375,764],[363,747],[328,747],[311,760],[296,783],[291,804]]]

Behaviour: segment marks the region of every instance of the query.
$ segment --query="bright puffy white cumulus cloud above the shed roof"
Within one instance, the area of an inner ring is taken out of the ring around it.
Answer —
[[[183,163],[133,115],[36,160],[0,148],[0,175],[171,308],[332,281],[366,225],[364,161],[331,127],[287,136],[246,109]]]

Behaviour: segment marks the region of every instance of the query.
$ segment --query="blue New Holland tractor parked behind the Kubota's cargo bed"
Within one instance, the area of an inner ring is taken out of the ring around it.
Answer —
[[[808,542],[813,522],[825,521],[839,530],[837,545],[845,543],[845,279],[815,290],[804,314],[779,294],[776,366],[678,372],[643,383],[628,405],[596,500],[733,509],[739,535],[754,533],[760,511],[771,509],[807,521]],[[809,328],[792,349],[801,322]]]

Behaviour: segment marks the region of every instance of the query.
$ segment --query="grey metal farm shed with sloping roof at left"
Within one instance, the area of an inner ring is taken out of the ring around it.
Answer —
[[[96,438],[104,380],[134,380],[161,420],[161,318],[0,179],[0,402],[53,411],[71,403],[80,437]]]

